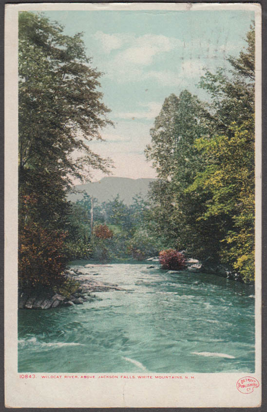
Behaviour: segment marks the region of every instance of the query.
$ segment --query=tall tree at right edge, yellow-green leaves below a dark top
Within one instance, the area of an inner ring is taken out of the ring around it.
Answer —
[[[218,76],[217,71],[214,77],[208,72],[201,80],[212,97],[218,128],[210,139],[195,142],[199,155],[206,158],[206,167],[197,173],[189,189],[208,189],[211,194],[199,220],[227,218],[221,259],[230,263],[245,282],[254,280],[254,25],[250,26],[247,43],[238,58],[228,59],[231,76],[222,76],[222,71]]]

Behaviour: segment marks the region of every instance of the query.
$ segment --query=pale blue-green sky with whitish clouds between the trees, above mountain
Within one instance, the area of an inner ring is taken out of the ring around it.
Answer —
[[[49,11],[65,34],[83,32],[92,66],[99,79],[103,102],[112,110],[115,127],[102,130],[105,142],[90,142],[102,157],[114,160],[113,176],[156,177],[144,149],[150,128],[164,99],[188,89],[200,99],[197,87],[205,67],[229,68],[227,57],[246,47],[253,12],[220,11]],[[93,181],[104,175],[93,172]]]

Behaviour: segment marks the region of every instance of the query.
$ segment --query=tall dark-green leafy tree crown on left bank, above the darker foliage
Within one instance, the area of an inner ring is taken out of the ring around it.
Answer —
[[[19,13],[19,166],[81,177],[86,165],[107,171],[109,161],[88,146],[111,124],[81,33],[29,12]],[[78,155],[74,157],[74,152]]]

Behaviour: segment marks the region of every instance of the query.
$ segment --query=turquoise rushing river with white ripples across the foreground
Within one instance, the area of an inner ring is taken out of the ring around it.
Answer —
[[[252,287],[145,264],[84,268],[121,291],[19,310],[19,372],[253,372]]]

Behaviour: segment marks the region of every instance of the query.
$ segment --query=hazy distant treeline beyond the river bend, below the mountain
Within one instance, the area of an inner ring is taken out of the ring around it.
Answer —
[[[94,199],[93,231],[91,233],[92,199],[83,199],[72,205],[71,247],[73,258],[108,260],[143,260],[160,251],[160,243],[149,231],[149,202],[140,195],[127,206],[117,195],[113,200],[98,204]],[[75,246],[76,245],[76,246]],[[86,247],[89,245],[89,248]]]

